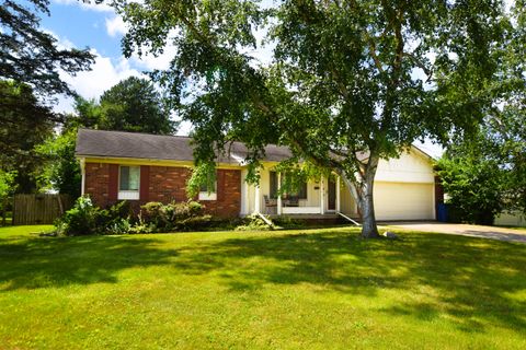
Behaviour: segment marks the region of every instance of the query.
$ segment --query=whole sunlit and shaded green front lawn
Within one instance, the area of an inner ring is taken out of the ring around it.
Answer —
[[[524,349],[526,245],[0,229],[0,348]]]

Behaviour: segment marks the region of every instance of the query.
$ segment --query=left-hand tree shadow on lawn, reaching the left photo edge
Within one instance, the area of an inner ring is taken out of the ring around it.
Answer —
[[[18,289],[117,282],[116,272],[169,264],[157,240],[85,236],[0,241],[0,293]]]

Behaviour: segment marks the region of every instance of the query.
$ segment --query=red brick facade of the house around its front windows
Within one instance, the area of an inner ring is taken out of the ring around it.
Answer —
[[[85,164],[84,194],[90,195],[96,206],[107,207],[115,202],[114,196],[111,194],[112,184],[118,180],[114,175],[115,165]],[[186,167],[142,165],[140,167],[140,199],[130,202],[134,208],[137,208],[147,201],[163,203],[186,201],[186,180],[190,176],[191,171]],[[217,200],[201,202],[205,206],[205,211],[215,217],[238,217],[241,210],[241,171],[218,170]]]

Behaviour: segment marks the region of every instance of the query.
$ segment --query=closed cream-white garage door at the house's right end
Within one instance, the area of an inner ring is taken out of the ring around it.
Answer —
[[[377,220],[433,220],[433,184],[375,183]]]

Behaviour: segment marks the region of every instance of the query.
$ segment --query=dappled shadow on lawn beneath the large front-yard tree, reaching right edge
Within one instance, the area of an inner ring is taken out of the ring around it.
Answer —
[[[380,312],[422,322],[447,317],[464,331],[499,324],[526,331],[526,246],[444,234],[402,233],[400,241],[362,241],[321,232],[232,238],[175,259],[183,273],[213,273],[232,291],[267,283],[310,283],[319,292],[379,296],[405,293]],[[409,294],[408,294],[409,293]]]

